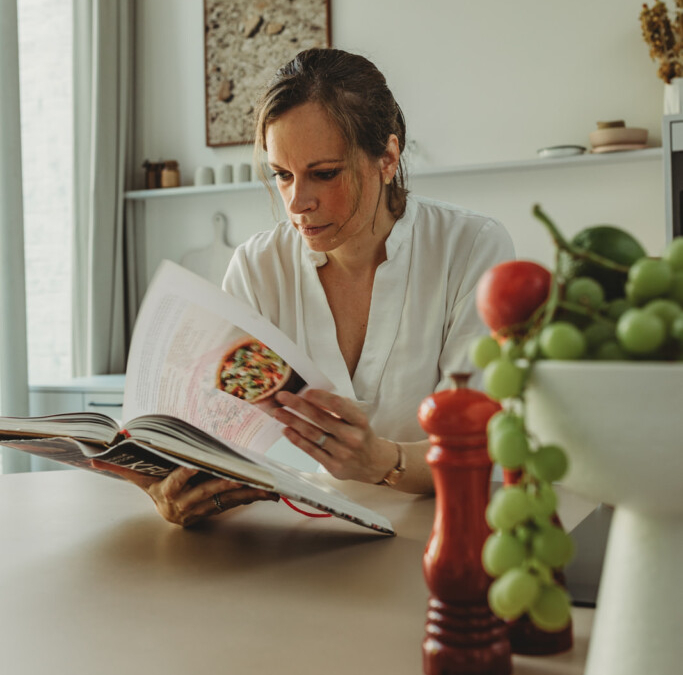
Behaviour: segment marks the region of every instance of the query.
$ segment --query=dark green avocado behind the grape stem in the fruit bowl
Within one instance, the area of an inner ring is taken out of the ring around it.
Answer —
[[[571,243],[626,267],[647,255],[635,237],[613,225],[587,227],[576,234]],[[566,279],[583,276],[595,279],[602,285],[606,300],[624,296],[626,273],[575,258],[567,251],[560,254],[560,270]]]

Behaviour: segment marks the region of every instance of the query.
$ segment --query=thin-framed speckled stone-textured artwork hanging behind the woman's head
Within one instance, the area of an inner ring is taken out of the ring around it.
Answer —
[[[330,40],[330,0],[204,0],[206,144],[251,143],[254,103],[277,68]]]

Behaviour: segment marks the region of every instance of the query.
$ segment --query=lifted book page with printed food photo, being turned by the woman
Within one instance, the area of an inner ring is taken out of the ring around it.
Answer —
[[[242,301],[164,261],[133,333],[124,421],[178,417],[229,443],[265,451],[282,436],[274,394],[332,383],[287,336]]]

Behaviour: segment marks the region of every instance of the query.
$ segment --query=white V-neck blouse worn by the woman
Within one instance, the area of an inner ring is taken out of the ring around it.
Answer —
[[[240,245],[223,288],[242,298],[306,350],[358,402],[380,436],[417,441],[422,400],[448,385],[448,374],[472,371],[471,340],[487,329],[475,307],[477,280],[510,260],[510,236],[495,220],[431,199],[408,196],[404,216],[386,240],[375,274],[365,343],[353,379],[311,251],[288,221]],[[478,380],[473,386],[478,386]]]

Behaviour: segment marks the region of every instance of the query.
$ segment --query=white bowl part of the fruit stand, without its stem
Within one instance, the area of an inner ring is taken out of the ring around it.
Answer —
[[[683,516],[683,363],[541,361],[528,406],[535,432],[569,453],[568,488]]]

